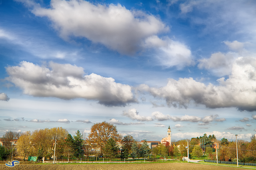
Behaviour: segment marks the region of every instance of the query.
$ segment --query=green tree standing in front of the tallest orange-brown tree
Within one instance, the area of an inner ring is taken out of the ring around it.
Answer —
[[[117,157],[118,151],[119,148],[116,145],[114,139],[108,139],[104,147],[104,153],[106,154],[106,156],[109,157],[110,159],[113,159],[114,157]]]

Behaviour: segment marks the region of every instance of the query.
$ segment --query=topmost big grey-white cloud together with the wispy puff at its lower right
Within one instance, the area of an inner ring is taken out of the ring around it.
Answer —
[[[194,64],[189,47],[168,36],[159,38],[157,34],[169,31],[169,27],[144,11],[128,10],[121,4],[93,4],[83,0],[52,0],[49,8],[26,2],[36,16],[49,18],[64,40],[72,36],[84,37],[128,55],[153,48],[160,65],[181,69]]]

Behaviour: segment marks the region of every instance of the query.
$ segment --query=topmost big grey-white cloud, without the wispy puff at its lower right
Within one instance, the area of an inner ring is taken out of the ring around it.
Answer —
[[[85,37],[123,54],[136,52],[146,38],[169,30],[159,18],[120,4],[54,0],[50,8],[35,6],[32,12],[48,17],[63,39]]]

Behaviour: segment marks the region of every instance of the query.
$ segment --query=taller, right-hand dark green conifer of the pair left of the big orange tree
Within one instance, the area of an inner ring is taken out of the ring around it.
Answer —
[[[74,149],[74,156],[77,159],[79,157],[83,156],[83,154],[84,154],[84,151],[83,151],[83,137],[82,137],[79,130],[77,130],[76,136],[74,136],[73,149]]]

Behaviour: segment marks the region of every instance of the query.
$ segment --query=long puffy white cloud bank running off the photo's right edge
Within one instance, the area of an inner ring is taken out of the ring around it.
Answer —
[[[220,78],[219,85],[208,85],[193,78],[169,79],[164,87],[141,84],[140,91],[148,91],[156,98],[163,98],[167,105],[187,108],[190,102],[208,108],[236,107],[238,110],[256,110],[256,58],[239,57],[235,60],[228,79]]]

